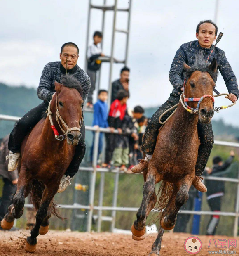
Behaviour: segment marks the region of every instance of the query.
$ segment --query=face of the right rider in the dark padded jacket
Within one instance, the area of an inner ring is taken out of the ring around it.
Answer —
[[[196,33],[199,45],[203,48],[210,48],[213,41],[216,39],[216,28],[211,23],[203,23],[199,27],[199,32]]]

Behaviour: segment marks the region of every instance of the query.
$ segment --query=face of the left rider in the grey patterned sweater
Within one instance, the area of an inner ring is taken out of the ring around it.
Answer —
[[[73,69],[73,67],[77,64],[77,60],[79,58],[77,49],[73,46],[66,45],[62,53],[60,53],[60,60],[62,66],[66,69],[66,57],[67,57],[67,69]]]

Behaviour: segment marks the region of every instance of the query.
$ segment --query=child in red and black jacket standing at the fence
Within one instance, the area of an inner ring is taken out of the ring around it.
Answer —
[[[120,142],[122,128],[123,128],[123,120],[126,111],[126,102],[128,100],[129,94],[124,90],[120,90],[117,94],[117,99],[112,102],[110,106],[110,113],[108,116],[108,123],[110,127],[113,127],[119,131],[119,135],[107,134],[106,135],[106,154],[105,154],[105,163],[109,164],[115,146],[117,150],[114,152],[115,157],[114,161],[117,166],[126,165],[129,161],[129,148],[124,142]],[[117,142],[117,143],[116,143]],[[122,148],[119,149],[120,145]]]

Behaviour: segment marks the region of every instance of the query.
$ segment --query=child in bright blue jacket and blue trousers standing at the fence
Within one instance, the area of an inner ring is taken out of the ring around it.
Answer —
[[[108,117],[108,107],[106,104],[106,101],[108,99],[108,92],[106,90],[99,90],[98,92],[98,101],[96,102],[96,104],[94,104],[94,116],[93,116],[93,126],[95,128],[109,128],[108,125],[108,121],[107,121],[107,117]],[[111,131],[114,131],[114,128],[111,128]],[[95,134],[93,135],[93,144],[91,147],[91,162],[93,160],[93,150],[94,150],[94,139],[95,138]],[[102,151],[102,147],[103,147],[103,133],[100,133],[100,137],[99,137],[99,143],[98,143],[98,157],[99,154],[101,154]],[[97,159],[98,159],[97,157]]]

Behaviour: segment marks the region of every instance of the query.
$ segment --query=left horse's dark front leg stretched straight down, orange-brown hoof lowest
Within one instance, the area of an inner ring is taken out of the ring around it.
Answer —
[[[49,211],[49,206],[51,206],[52,199],[56,194],[58,186],[52,185],[51,188],[46,187],[43,195],[42,202],[39,210],[36,215],[36,223],[34,228],[31,230],[30,237],[26,239],[25,250],[27,252],[34,252],[37,247],[37,236],[39,235],[40,226],[42,222],[47,218],[47,214]]]

